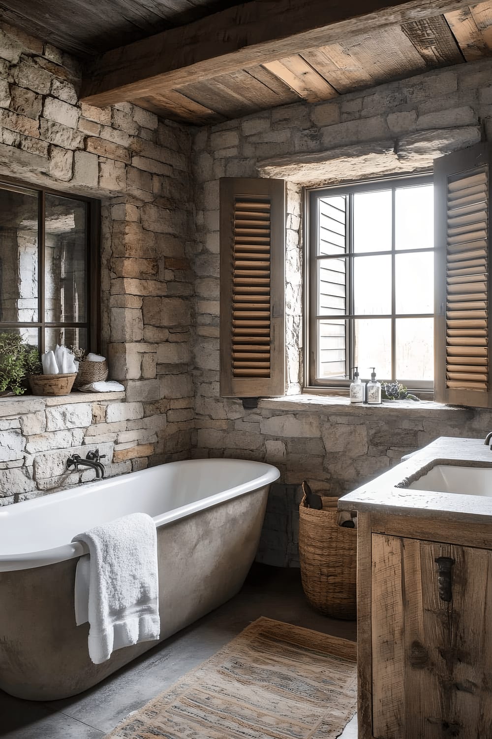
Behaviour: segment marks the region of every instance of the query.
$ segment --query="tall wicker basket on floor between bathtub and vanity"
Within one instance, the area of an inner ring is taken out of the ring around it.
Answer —
[[[323,510],[299,505],[299,559],[308,602],[335,619],[356,619],[357,529],[338,525],[333,498]]]

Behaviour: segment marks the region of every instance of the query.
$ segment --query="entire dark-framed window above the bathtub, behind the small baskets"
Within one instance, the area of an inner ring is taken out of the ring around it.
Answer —
[[[97,349],[98,202],[0,182],[0,332]]]

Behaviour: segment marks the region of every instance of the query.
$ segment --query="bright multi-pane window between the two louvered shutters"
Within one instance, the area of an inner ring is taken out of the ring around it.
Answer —
[[[434,379],[432,176],[311,191],[311,386]]]

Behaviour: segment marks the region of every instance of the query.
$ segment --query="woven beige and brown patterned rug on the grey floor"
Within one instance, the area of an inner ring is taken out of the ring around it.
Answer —
[[[356,712],[356,644],[261,618],[111,739],[336,739]]]

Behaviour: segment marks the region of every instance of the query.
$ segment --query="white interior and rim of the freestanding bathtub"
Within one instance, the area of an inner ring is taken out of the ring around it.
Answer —
[[[0,571],[20,566],[11,562],[10,567],[9,557],[19,556],[32,567],[37,565],[28,563],[30,554],[44,552],[38,565],[80,555],[80,545],[69,542],[94,525],[134,511],[162,525],[267,485],[275,473],[270,465],[249,460],[187,460],[7,506],[0,509]],[[60,547],[63,552],[53,552]]]

